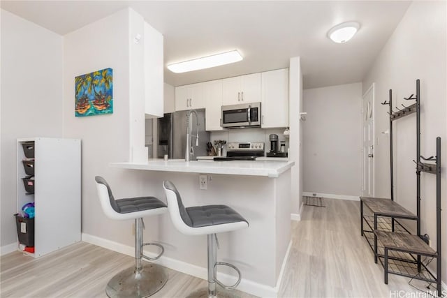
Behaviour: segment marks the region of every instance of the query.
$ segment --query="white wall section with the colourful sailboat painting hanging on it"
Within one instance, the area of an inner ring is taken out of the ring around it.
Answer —
[[[131,92],[129,76],[138,72],[135,58],[140,52],[131,48],[137,44],[131,42],[130,18],[131,10],[120,10],[64,36],[64,136],[82,139],[82,232],[133,245],[131,221],[106,218],[94,184],[94,177],[100,175],[108,180],[116,198],[141,195],[141,178],[135,172],[109,167],[111,162],[131,158],[131,122],[139,125],[144,146],[144,96],[133,94],[142,91],[142,86],[136,85]],[[75,76],[109,67],[113,69],[113,113],[75,117]],[[135,98],[143,105],[132,103]],[[140,107],[139,115],[135,107]]]

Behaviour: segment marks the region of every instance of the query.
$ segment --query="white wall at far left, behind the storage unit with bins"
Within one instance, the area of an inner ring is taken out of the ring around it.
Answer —
[[[15,249],[17,241],[13,217],[17,212],[16,139],[62,136],[62,62],[61,36],[1,10],[0,246],[3,248]],[[2,249],[2,253],[8,251]]]

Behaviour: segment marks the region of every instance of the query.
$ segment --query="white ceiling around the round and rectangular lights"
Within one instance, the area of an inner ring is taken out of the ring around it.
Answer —
[[[411,1],[5,1],[1,8],[64,35],[131,7],[163,33],[165,77],[179,86],[288,67],[300,56],[305,89],[360,82]],[[327,36],[360,22],[348,43]],[[243,61],[175,74],[167,64],[237,49]]]

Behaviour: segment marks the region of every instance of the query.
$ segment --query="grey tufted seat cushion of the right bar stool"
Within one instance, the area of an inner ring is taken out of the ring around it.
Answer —
[[[234,209],[226,205],[206,205],[186,208],[186,213],[191,218],[191,227],[205,227],[207,225],[223,225],[225,223],[237,223],[245,218]]]

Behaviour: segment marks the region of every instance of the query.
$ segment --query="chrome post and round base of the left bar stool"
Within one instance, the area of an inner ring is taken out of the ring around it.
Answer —
[[[168,274],[159,265],[142,265],[142,218],[135,219],[135,267],[119,272],[107,284],[108,297],[149,297],[168,281]]]

